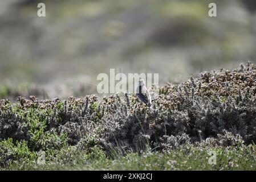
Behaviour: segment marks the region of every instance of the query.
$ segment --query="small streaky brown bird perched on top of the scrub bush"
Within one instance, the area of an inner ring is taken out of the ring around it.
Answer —
[[[137,87],[137,97],[144,102],[145,104],[147,104],[148,108],[150,111],[152,111],[151,109],[151,94],[148,92],[147,87],[145,86],[145,82],[143,79],[140,78],[139,80],[139,86]]]

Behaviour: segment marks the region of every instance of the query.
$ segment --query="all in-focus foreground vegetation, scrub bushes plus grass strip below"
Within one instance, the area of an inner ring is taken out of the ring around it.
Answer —
[[[253,64],[202,72],[154,91],[159,95],[151,113],[136,95],[126,93],[1,100],[0,167],[255,169]],[[208,164],[211,150],[219,156],[217,166]],[[46,166],[36,164],[38,151],[46,152]],[[136,166],[144,158],[144,164]]]

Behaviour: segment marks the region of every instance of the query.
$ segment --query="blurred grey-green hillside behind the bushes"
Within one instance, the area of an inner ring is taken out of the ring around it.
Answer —
[[[0,98],[84,97],[110,68],[163,85],[256,63],[256,1],[1,0],[0,42]]]

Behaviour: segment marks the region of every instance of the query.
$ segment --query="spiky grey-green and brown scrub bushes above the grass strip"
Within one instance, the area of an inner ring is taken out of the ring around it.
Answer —
[[[152,113],[128,94],[103,100],[94,95],[66,101],[40,101],[34,96],[18,97],[16,103],[1,100],[0,164],[34,159],[39,150],[46,151],[48,160],[70,160],[73,154],[86,159],[112,150],[124,153],[151,147],[161,152],[189,144],[225,147],[256,142],[253,64],[204,72],[155,92],[159,96]],[[5,155],[9,150],[12,155]]]

